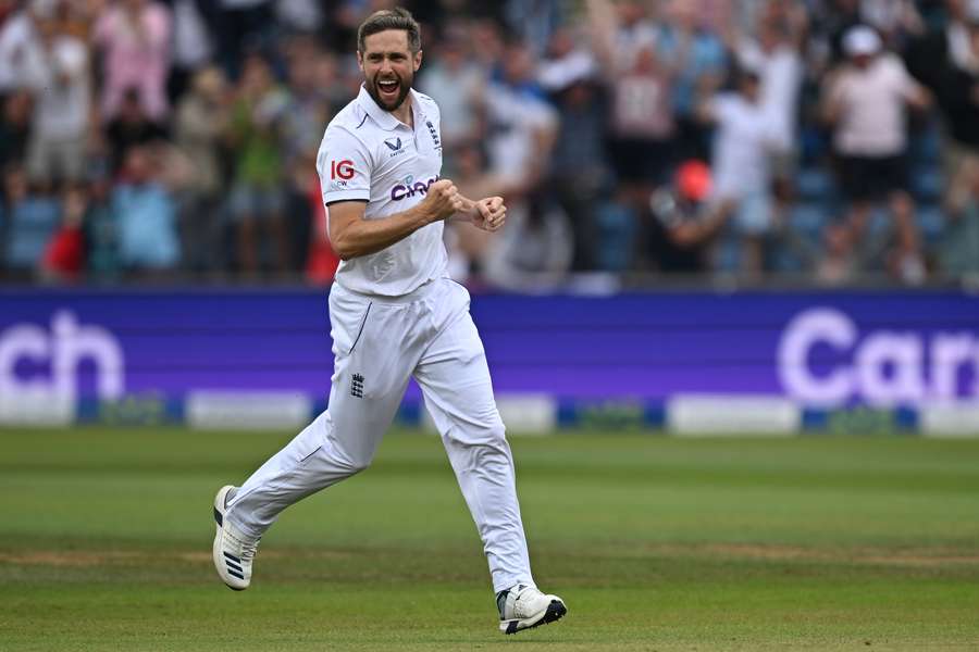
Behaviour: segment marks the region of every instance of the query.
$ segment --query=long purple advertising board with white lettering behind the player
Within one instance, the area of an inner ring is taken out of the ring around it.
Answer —
[[[8,402],[329,393],[325,290],[7,289],[0,306]],[[472,314],[500,394],[979,401],[979,297],[959,291],[476,294]]]

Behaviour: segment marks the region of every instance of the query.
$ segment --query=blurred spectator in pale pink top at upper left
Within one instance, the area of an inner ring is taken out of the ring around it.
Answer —
[[[102,120],[119,112],[129,89],[138,89],[142,108],[153,121],[170,110],[170,10],[153,0],[116,0],[99,16],[92,39],[102,58]]]

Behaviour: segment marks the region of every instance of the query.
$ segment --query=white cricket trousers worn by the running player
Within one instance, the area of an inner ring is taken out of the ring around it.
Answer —
[[[439,278],[388,298],[333,284],[330,322],[329,408],[248,478],[225,518],[260,537],[287,506],[367,468],[413,376],[483,539],[494,591],[533,585],[513,456],[466,288]]]

